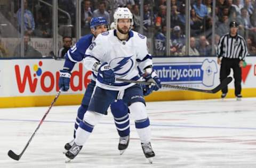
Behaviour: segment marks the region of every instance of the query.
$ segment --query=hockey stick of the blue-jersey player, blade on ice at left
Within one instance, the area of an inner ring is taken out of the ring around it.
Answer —
[[[28,142],[27,142],[25,148],[22,150],[22,152],[21,152],[19,155],[17,155],[17,154],[15,154],[12,150],[9,150],[8,156],[10,156],[12,159],[14,159],[14,160],[16,160],[16,161],[19,161],[19,159],[21,158],[21,156],[23,155],[23,153],[24,153],[25,150],[27,149],[27,147],[28,147],[30,141],[31,141],[32,138],[35,136],[36,131],[37,131],[37,130],[39,129],[39,127],[42,125],[42,123],[43,123],[43,121],[44,121],[46,115],[50,112],[50,110],[51,110],[53,104],[56,102],[56,100],[57,100],[58,97],[60,96],[60,93],[61,93],[61,89],[59,90],[59,92],[58,92],[58,94],[55,96],[55,98],[53,99],[51,106],[48,108],[47,112],[44,114],[43,118],[42,118],[41,121],[39,122],[39,124],[38,124],[36,130],[34,131],[33,135],[32,135],[32,136],[30,137],[30,139],[28,140]]]

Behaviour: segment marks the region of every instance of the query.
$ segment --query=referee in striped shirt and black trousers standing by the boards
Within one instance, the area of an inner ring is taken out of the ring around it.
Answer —
[[[241,67],[247,55],[247,47],[244,38],[237,34],[237,22],[230,22],[229,27],[229,33],[220,38],[217,48],[218,64],[220,64],[220,81],[227,78],[230,74],[230,69],[233,69],[235,95],[237,100],[241,100]],[[221,91],[221,98],[225,98],[228,93],[228,87],[223,88]]]

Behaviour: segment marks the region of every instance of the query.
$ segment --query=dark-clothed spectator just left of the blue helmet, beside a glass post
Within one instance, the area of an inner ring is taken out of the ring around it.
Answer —
[[[92,11],[91,11],[91,1],[84,0],[82,2],[81,7],[81,33],[82,35],[86,35],[87,33],[91,32],[90,29],[90,21],[92,19]]]

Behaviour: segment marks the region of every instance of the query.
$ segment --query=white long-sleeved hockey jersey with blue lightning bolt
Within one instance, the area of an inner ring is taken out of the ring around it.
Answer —
[[[84,66],[93,70],[95,62],[107,62],[115,72],[116,78],[139,80],[137,67],[143,70],[152,65],[152,57],[147,50],[147,38],[138,32],[129,31],[129,39],[121,41],[116,36],[116,30],[103,32],[85,52]],[[108,90],[123,90],[135,85],[116,81],[110,86],[100,81],[97,79],[96,86]]]

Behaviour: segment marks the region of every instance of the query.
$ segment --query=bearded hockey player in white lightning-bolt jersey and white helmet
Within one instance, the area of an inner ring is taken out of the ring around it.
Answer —
[[[115,30],[101,33],[86,50],[84,65],[98,72],[96,88],[83,122],[76,131],[74,144],[66,156],[68,159],[75,158],[109,105],[116,99],[123,99],[134,115],[143,153],[152,163],[155,153],[150,144],[150,122],[142,88],[135,83],[115,79],[139,80],[139,66],[145,73],[146,81],[154,83],[151,89],[161,88],[161,82],[153,71],[152,57],[147,51],[147,38],[131,30],[133,19],[130,10],[119,7],[114,14],[114,21]]]

